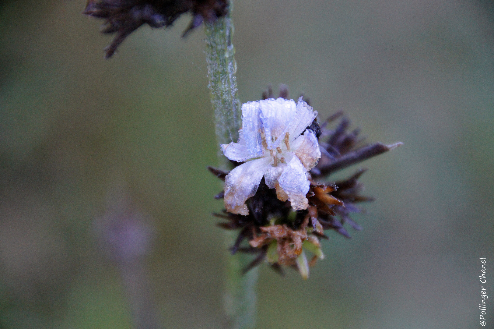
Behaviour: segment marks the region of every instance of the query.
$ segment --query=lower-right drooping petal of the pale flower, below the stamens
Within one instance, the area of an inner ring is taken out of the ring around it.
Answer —
[[[305,195],[309,191],[310,182],[307,179],[307,170],[296,156],[288,162],[278,178],[278,184],[288,194],[293,210],[307,209],[309,201]]]

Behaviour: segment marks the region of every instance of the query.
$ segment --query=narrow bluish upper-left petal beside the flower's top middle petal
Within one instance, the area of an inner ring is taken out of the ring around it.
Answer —
[[[259,101],[242,104],[242,132],[252,157],[262,156],[261,120]],[[239,138],[240,142],[240,138]]]

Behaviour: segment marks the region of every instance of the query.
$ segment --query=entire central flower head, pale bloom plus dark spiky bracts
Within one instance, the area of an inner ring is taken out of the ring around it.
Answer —
[[[222,145],[225,156],[237,167],[229,173],[209,167],[225,181],[224,192],[216,198],[225,198],[226,210],[214,215],[227,220],[218,224],[221,228],[240,230],[232,253],[256,255],[244,272],[266,260],[281,274],[285,265],[298,269],[306,279],[309,266],[324,258],[319,241],[328,238],[324,231],[335,230],[349,238],[345,223],[362,229],[349,216],[362,211],[355,204],[372,200],[360,194],[363,186],[358,179],[365,169],[340,182],[330,181],[328,174],[402,143],[359,146],[363,141],[359,130],[347,132],[350,122],[345,117],[336,129],[326,128],[342,112],[320,126],[317,112],[303,97],[296,105],[287,100],[285,85],[280,86],[280,96],[274,99],[268,87],[263,93],[266,99],[242,106],[239,141]],[[292,161],[297,163],[296,170],[289,166]],[[243,246],[246,239],[248,245]],[[313,254],[310,261],[306,251]]]

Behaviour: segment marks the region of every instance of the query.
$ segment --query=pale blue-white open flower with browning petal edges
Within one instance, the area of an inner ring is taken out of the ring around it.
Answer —
[[[229,212],[248,214],[245,202],[255,194],[262,177],[294,210],[307,209],[308,171],[317,164],[321,151],[314,132],[306,128],[316,117],[317,111],[302,97],[297,103],[280,97],[242,105],[239,140],[221,145],[228,159],[246,161],[226,176]]]

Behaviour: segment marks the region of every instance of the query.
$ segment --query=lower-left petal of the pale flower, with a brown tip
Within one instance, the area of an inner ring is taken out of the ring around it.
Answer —
[[[248,215],[246,200],[255,194],[270,158],[247,161],[225,178],[225,207],[233,214]]]

